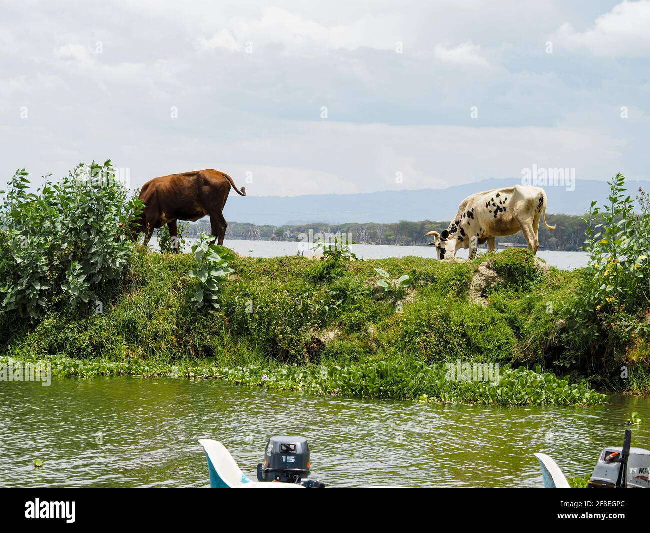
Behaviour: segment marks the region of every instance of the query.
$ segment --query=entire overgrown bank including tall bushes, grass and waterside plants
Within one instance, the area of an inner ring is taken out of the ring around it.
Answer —
[[[0,191],[0,356],[61,376],[436,402],[602,401],[590,383],[647,394],[650,198],[634,213],[624,182],[584,220],[588,267],[567,272],[521,249],[357,261],[339,243],[320,260],[258,259],[203,236],[192,254],[158,254],[133,243],[143,205],[110,161],[36,193],[21,169]],[[448,375],[456,363],[469,374]]]

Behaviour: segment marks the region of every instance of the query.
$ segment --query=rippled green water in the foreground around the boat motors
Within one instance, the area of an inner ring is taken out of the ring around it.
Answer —
[[[222,441],[255,477],[271,435],[309,439],[330,487],[541,487],[538,461],[593,471],[650,398],[597,407],[480,407],[318,398],[224,381],[96,377],[0,382],[0,485],[206,487],[201,438]],[[650,449],[647,422],[632,445]],[[33,461],[45,464],[34,470]]]

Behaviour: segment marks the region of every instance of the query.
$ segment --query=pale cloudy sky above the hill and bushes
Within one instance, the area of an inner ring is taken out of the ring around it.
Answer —
[[[650,179],[650,0],[0,9],[0,185],[107,157],[132,185],[216,168],[251,195]]]

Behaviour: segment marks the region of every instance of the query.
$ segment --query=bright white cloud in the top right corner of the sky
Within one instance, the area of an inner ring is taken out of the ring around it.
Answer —
[[[585,31],[564,23],[556,38],[568,48],[585,48],[599,57],[648,57],[650,0],[617,4]]]

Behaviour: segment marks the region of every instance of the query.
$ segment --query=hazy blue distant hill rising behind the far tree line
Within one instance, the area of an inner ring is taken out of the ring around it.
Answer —
[[[269,225],[344,222],[392,223],[400,220],[450,220],[456,215],[463,198],[487,189],[511,187],[521,180],[491,178],[480,182],[454,185],[447,189],[416,189],[380,191],[346,195],[303,195],[294,197],[231,195],[224,215],[227,220]],[[632,197],[639,187],[650,188],[650,182],[627,182]],[[544,187],[549,197],[549,213],[581,215],[591,200],[606,200],[609,185],[599,180],[576,180],[575,190],[565,187]],[[254,189],[253,186],[250,189]]]

